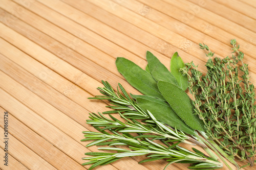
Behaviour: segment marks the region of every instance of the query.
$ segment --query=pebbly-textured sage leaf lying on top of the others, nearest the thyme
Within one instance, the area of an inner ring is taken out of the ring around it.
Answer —
[[[187,126],[194,130],[205,131],[202,120],[194,115],[194,106],[185,91],[169,82],[159,81],[157,85],[164,99]]]

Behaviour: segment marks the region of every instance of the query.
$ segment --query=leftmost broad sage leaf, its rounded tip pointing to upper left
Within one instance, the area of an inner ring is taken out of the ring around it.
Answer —
[[[151,95],[155,98],[164,100],[157,88],[157,82],[147,71],[143,70],[134,62],[122,57],[116,59],[116,66],[126,81],[142,94]]]

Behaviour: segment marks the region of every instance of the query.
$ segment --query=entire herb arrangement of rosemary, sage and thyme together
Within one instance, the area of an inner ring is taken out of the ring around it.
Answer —
[[[112,105],[106,107],[113,110],[103,113],[109,114],[111,119],[101,113],[90,113],[87,124],[99,132],[83,132],[86,138],[82,141],[94,140],[87,147],[109,145],[99,149],[117,153],[86,153],[93,157],[84,158],[90,160],[84,165],[93,164],[92,169],[121,157],[148,154],[150,159],[142,162],[165,159],[169,161],[167,165],[192,163],[190,169],[221,168],[222,163],[207,145],[229,169],[231,167],[219,152],[238,168],[234,156],[247,159],[252,166],[256,147],[254,87],[249,82],[248,65],[237,66],[239,61],[243,62],[243,53],[238,51],[235,40],[231,44],[238,56],[223,60],[211,60],[214,53],[207,45],[200,44],[202,49],[209,51],[206,76],[202,76],[193,62],[184,64],[178,53],[170,61],[170,71],[150,52],[146,54],[145,70],[130,60],[117,58],[120,74],[144,95],[129,95],[120,84],[115,92],[108,82],[102,81],[104,87],[98,89],[103,95],[90,99],[109,100]],[[239,69],[244,73],[242,80],[238,76]],[[185,92],[187,87],[194,100]],[[118,113],[124,122],[112,113]],[[199,144],[211,157],[196,149],[188,151],[178,145],[180,142]],[[111,147],[118,145],[128,145],[130,149]]]

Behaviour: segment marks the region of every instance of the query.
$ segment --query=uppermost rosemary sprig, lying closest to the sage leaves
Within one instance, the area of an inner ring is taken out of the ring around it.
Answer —
[[[163,135],[169,134],[169,135],[175,135],[176,137],[182,137],[182,142],[189,143],[189,144],[193,144],[191,142],[194,142],[200,145],[201,147],[203,147],[204,149],[207,148],[202,141],[200,142],[198,140],[195,140],[194,138],[187,136],[183,132],[178,132],[177,129],[172,129],[170,127],[165,126],[164,124],[159,122],[150,112],[143,111],[137,105],[137,103],[130,98],[130,96],[127,94],[127,92],[125,91],[125,89],[122,87],[120,83],[118,84],[119,88],[117,87],[117,92],[114,91],[114,89],[111,87],[111,85],[107,81],[102,81],[102,84],[104,85],[104,87],[98,87],[97,89],[100,90],[100,92],[104,95],[96,95],[95,98],[89,98],[89,99],[110,101],[110,104],[112,104],[112,106],[106,106],[106,107],[112,108],[114,110],[102,112],[103,114],[122,112],[121,116],[125,117],[126,119],[127,118],[144,119],[144,122],[150,123],[151,126],[158,127],[158,129],[160,129]],[[120,93],[119,89],[123,94]],[[106,122],[108,121],[109,120],[106,120]],[[116,121],[118,121],[118,119],[116,119],[115,122]],[[159,132],[150,132],[150,133],[157,134]],[[186,139],[189,140],[190,142],[187,141]],[[211,154],[209,150],[206,149],[206,151],[208,154],[214,157],[214,155]]]

